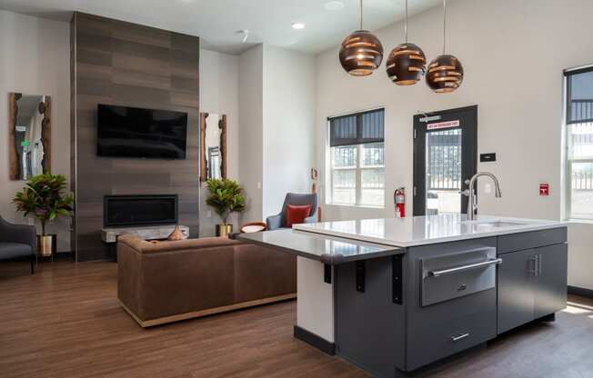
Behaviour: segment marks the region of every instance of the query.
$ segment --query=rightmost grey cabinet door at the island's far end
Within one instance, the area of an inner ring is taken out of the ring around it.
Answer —
[[[536,319],[556,313],[567,305],[568,244],[536,248],[538,283]]]

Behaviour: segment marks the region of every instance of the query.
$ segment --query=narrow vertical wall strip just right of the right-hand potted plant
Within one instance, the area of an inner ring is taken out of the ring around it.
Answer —
[[[262,219],[264,46],[239,56],[239,179],[247,196],[244,222]]]

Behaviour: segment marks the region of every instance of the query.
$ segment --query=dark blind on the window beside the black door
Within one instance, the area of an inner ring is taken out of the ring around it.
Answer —
[[[329,145],[381,143],[385,140],[385,109],[329,118]]]

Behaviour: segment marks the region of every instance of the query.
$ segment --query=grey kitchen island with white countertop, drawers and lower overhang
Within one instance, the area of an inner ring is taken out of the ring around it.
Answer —
[[[567,300],[561,222],[441,214],[238,237],[297,254],[297,338],[380,377],[554,320]]]

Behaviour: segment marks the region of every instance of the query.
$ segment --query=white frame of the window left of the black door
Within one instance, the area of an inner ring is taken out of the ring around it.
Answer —
[[[334,167],[334,154],[333,154],[333,148],[339,148],[340,146],[332,146],[330,141],[331,141],[331,121],[333,119],[337,119],[337,118],[341,118],[341,117],[347,117],[347,116],[357,116],[357,124],[360,125],[361,124],[361,120],[364,114],[368,114],[368,113],[373,113],[373,112],[377,112],[377,110],[382,110],[385,114],[385,108],[384,107],[377,107],[377,108],[373,108],[373,109],[368,109],[365,111],[360,111],[360,112],[355,112],[355,113],[347,113],[347,114],[339,114],[336,116],[331,116],[331,117],[327,117],[327,148],[326,148],[326,154],[329,157],[328,159],[326,159],[326,174],[327,174],[327,184],[329,185],[329,190],[326,192],[328,195],[326,195],[326,204],[329,205],[334,205],[334,206],[356,206],[356,207],[368,207],[368,208],[377,208],[377,209],[381,209],[385,207],[386,204],[386,195],[385,195],[385,188],[386,188],[386,183],[385,183],[385,168],[386,168],[386,164],[385,164],[385,134],[383,137],[383,141],[377,142],[377,141],[369,141],[367,143],[359,143],[359,144],[345,144],[343,146],[356,146],[357,147],[357,159],[356,159],[356,165],[354,167],[347,167],[347,168],[335,168]],[[384,115],[385,116],[385,115]],[[385,118],[383,119],[383,127],[384,127],[384,133],[385,133]],[[383,144],[383,165],[382,166],[363,166],[362,165],[362,159],[364,158],[363,153],[364,153],[364,146],[367,144]],[[362,200],[362,192],[363,192],[363,183],[362,183],[362,175],[363,175],[363,171],[366,170],[374,170],[374,169],[383,169],[383,204],[362,204],[361,200]],[[335,171],[351,171],[354,170],[355,171],[355,202],[354,203],[338,203],[335,202],[334,200],[334,172]]]

